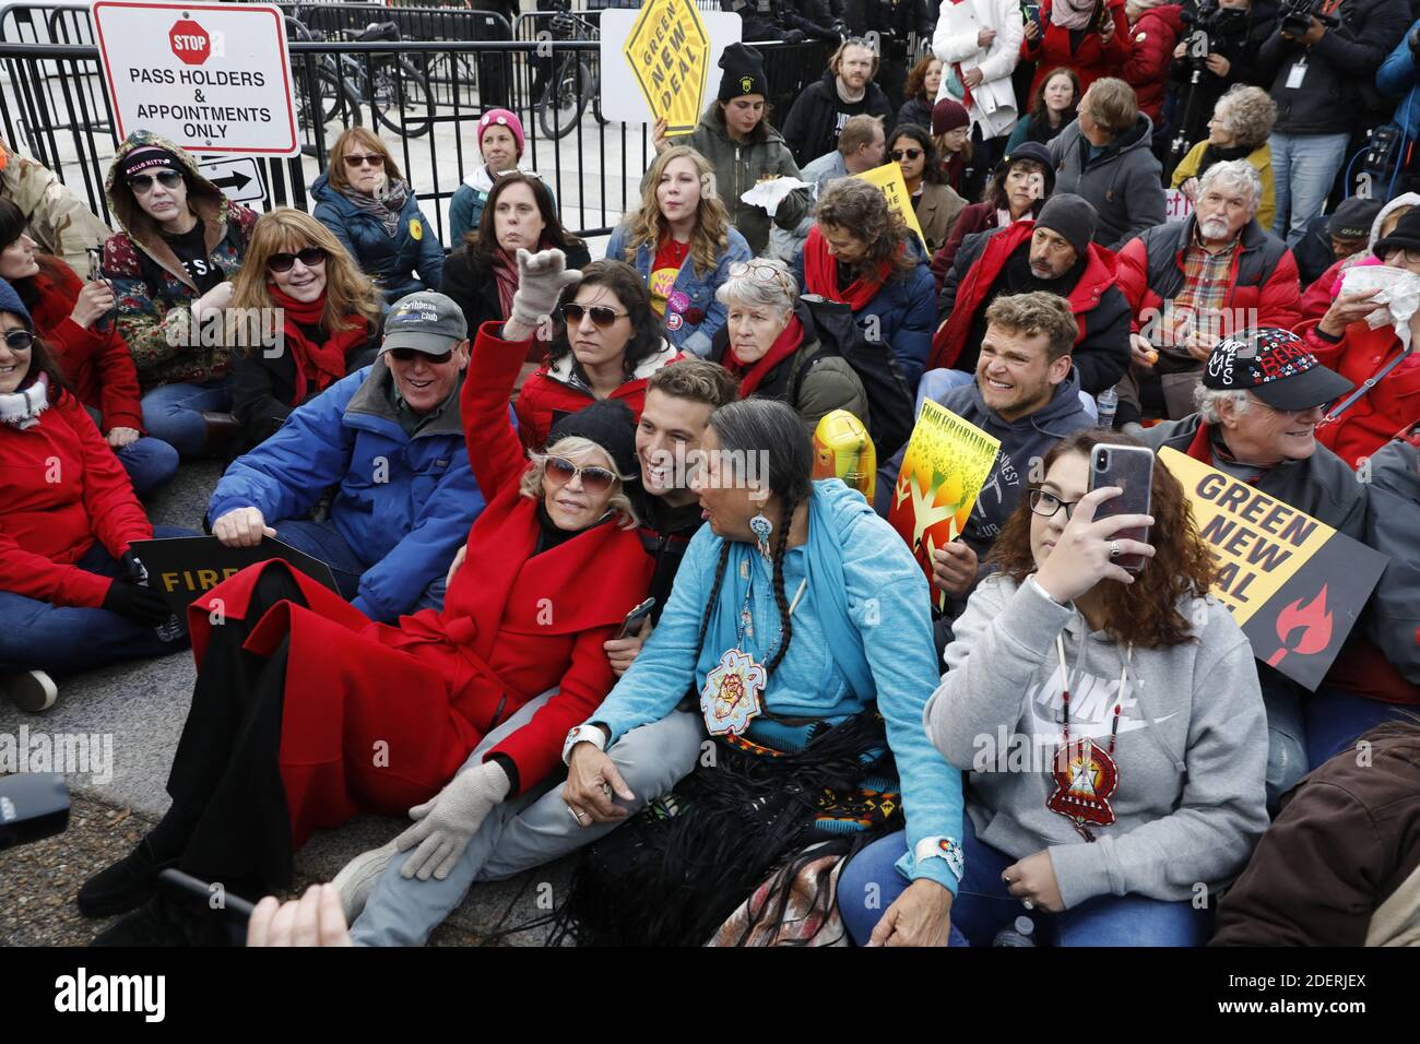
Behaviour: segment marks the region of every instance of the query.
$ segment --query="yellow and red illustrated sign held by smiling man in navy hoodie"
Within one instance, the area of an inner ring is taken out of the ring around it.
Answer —
[[[956,540],[995,463],[1001,440],[923,399],[893,487],[888,521],[932,580],[932,553]],[[943,604],[946,595],[934,592]]]

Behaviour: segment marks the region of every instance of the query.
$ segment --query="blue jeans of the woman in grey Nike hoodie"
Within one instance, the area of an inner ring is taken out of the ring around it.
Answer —
[[[1020,916],[1031,918],[1038,940],[1049,946],[1203,946],[1208,940],[1208,910],[1187,902],[1098,895],[1062,913],[1027,910],[1001,881],[1001,872],[1017,861],[977,841],[970,817],[963,817],[961,832],[966,876],[951,903],[951,946],[990,946]],[[906,851],[906,834],[889,834],[853,857],[838,878],[838,912],[859,946],[907,889],[893,865]]]

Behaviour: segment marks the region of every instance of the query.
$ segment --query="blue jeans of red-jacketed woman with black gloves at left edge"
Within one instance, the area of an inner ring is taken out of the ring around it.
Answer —
[[[192,530],[155,526],[153,535],[196,537]],[[102,544],[94,544],[75,567],[101,577],[121,577],[124,567]],[[166,656],[187,648],[182,638],[163,642],[153,628],[108,609],[51,605],[0,591],[0,673],[45,670],[72,675],[125,659]]]

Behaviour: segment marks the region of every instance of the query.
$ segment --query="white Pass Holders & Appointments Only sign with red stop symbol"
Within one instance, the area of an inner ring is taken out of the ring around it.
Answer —
[[[300,153],[280,7],[97,0],[94,34],[119,138],[153,131],[197,153]]]

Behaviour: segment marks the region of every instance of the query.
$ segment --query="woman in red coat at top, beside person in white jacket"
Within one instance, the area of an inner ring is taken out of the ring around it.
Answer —
[[[1132,53],[1125,0],[1044,0],[1041,20],[1025,23],[1021,60],[1035,62],[1028,94],[1058,65],[1075,70],[1081,97],[1100,77],[1129,61]]]

